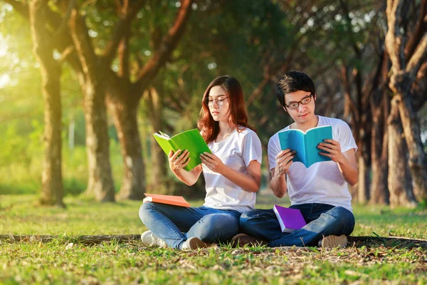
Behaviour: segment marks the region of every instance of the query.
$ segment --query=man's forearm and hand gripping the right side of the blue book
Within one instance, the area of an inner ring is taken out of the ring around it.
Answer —
[[[353,148],[342,153],[341,145],[336,140],[325,140],[325,142],[320,142],[317,147],[329,152],[319,152],[319,154],[330,157],[332,161],[337,162],[339,171],[349,185],[354,186],[357,183],[359,170],[357,170],[356,155],[354,155]]]

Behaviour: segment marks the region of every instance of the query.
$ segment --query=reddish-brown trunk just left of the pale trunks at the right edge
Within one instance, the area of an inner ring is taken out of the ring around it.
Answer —
[[[387,95],[381,92],[382,104],[372,109],[372,147],[371,147],[371,204],[389,204],[389,188],[387,187],[388,165],[388,134],[386,118],[389,112]]]

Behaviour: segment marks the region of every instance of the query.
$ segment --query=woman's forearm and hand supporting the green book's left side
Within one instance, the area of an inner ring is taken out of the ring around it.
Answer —
[[[189,157],[188,150],[184,150],[181,155],[181,150],[176,150],[174,153],[172,150],[169,152],[169,168],[174,172],[176,178],[184,182],[186,185],[194,185],[199,179],[201,173],[201,165],[197,165],[190,171],[184,170],[184,167],[189,164],[191,157]]]

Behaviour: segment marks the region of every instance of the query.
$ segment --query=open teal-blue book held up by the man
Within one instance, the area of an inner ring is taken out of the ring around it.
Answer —
[[[307,132],[302,130],[284,130],[279,134],[280,148],[286,150],[296,150],[293,162],[302,162],[305,167],[310,167],[313,163],[330,161],[330,157],[320,155],[322,150],[317,148],[320,142],[325,139],[332,140],[332,126],[322,125],[311,128]]]

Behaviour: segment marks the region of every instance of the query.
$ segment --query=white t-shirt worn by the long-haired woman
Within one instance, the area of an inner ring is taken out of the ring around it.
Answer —
[[[249,128],[241,133],[234,130],[225,140],[210,142],[208,146],[225,165],[245,174],[246,167],[251,161],[256,160],[260,163],[262,161],[263,150],[260,139]],[[202,166],[206,181],[205,207],[235,209],[238,212],[246,212],[255,207],[254,192],[247,192],[223,175],[213,172],[206,165]]]

